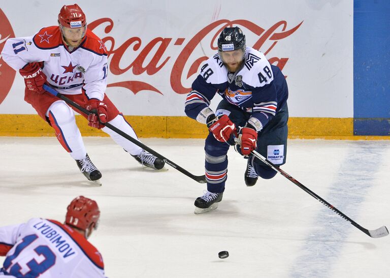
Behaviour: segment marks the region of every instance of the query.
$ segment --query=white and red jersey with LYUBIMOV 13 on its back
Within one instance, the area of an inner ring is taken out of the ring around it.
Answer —
[[[0,256],[7,256],[0,273],[15,277],[106,277],[99,251],[54,220],[33,218],[0,227]]]

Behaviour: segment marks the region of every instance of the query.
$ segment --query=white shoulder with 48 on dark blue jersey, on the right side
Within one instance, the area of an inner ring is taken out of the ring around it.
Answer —
[[[252,87],[263,87],[274,80],[271,65],[266,56],[251,47],[246,48],[242,80]]]

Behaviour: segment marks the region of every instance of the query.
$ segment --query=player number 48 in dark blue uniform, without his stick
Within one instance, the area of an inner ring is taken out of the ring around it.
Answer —
[[[214,113],[209,105],[216,93],[222,101]],[[224,28],[218,53],[204,63],[185,102],[187,116],[210,131],[205,142],[207,191],[195,201],[196,214],[216,209],[222,200],[231,145],[247,159],[247,186],[254,186],[258,176],[276,175],[251,151],[255,149],[275,165],[285,163],[287,97],[287,83],[279,68],[270,65],[263,53],[246,47],[239,27]]]

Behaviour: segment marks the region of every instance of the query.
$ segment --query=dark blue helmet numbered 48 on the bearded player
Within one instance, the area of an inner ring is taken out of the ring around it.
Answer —
[[[245,52],[246,40],[242,30],[235,27],[225,27],[218,38],[218,51],[232,51],[243,49]]]

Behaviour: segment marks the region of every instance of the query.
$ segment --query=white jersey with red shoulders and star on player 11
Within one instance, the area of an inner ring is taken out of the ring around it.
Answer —
[[[58,26],[42,28],[32,37],[10,38],[2,57],[17,72],[28,63],[43,61],[47,82],[61,94],[77,95],[83,89],[89,99],[103,100],[108,73],[106,46],[88,29],[75,49],[64,44]]]

